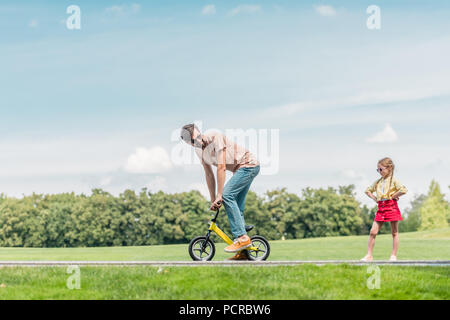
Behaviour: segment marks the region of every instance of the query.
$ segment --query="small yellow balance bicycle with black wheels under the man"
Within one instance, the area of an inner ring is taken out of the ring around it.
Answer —
[[[216,246],[211,239],[211,232],[215,232],[227,244],[232,244],[231,240],[225,232],[223,232],[216,224],[219,209],[215,216],[211,219],[208,233],[206,236],[195,237],[189,243],[189,255],[194,261],[210,261],[214,258],[216,253]],[[246,231],[249,232],[253,226],[246,226]],[[262,261],[266,260],[270,254],[269,242],[263,236],[252,236],[252,246],[245,249],[249,260]]]

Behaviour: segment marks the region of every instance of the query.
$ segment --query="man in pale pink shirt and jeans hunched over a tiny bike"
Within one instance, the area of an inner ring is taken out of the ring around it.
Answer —
[[[225,206],[235,239],[225,251],[236,253],[230,260],[247,259],[243,250],[250,247],[252,242],[245,228],[244,207],[250,185],[259,173],[258,160],[223,134],[201,134],[194,124],[181,129],[181,139],[195,147],[195,153],[201,160],[211,198],[210,209],[217,210],[222,203]],[[217,167],[217,194],[212,165]],[[226,170],[233,172],[233,177],[224,186]]]

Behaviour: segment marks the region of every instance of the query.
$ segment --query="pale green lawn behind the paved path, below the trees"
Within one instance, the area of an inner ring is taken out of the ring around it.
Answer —
[[[368,236],[270,241],[269,260],[359,260],[367,251]],[[101,248],[0,248],[0,260],[190,260],[187,244]],[[230,255],[216,241],[215,261]],[[379,235],[374,259],[389,259],[392,236]],[[400,234],[399,260],[450,260],[450,228]]]

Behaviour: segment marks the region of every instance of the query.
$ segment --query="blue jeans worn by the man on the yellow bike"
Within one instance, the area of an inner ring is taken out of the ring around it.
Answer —
[[[240,168],[223,188],[222,201],[235,239],[247,233],[244,221],[245,197],[258,173],[259,166]]]

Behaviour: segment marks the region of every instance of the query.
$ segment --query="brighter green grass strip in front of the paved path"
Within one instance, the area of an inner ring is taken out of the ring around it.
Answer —
[[[380,266],[379,289],[368,288],[367,267],[350,265],[80,270],[81,288],[70,290],[66,268],[0,268],[0,300],[450,298],[446,267]]]

